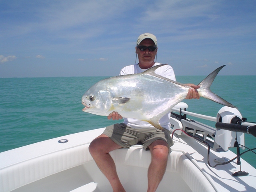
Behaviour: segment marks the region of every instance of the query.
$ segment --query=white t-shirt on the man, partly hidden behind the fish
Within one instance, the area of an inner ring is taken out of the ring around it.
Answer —
[[[160,63],[155,63],[154,66],[160,65]],[[141,69],[139,65],[130,65],[122,68],[119,75],[128,75],[128,74],[136,74],[146,71],[147,69]],[[170,65],[162,66],[155,71],[156,74],[166,77],[168,79],[176,81],[174,71]],[[170,112],[166,113],[160,120],[159,123],[163,128],[170,130]],[[146,121],[141,121],[134,118],[124,118],[124,124],[132,128],[149,128],[154,127],[150,123]]]

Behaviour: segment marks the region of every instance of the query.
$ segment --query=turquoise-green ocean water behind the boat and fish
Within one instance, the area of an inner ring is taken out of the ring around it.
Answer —
[[[107,77],[1,78],[0,152],[122,122],[82,111],[84,92],[104,78]],[[176,78],[181,83],[198,84],[205,76]],[[256,76],[217,76],[211,90],[237,106],[248,121],[256,122]],[[209,116],[216,116],[222,107],[204,98],[184,101],[188,111]],[[252,135],[245,135],[246,147],[255,148],[255,141]],[[256,168],[256,154],[247,152],[242,158]]]

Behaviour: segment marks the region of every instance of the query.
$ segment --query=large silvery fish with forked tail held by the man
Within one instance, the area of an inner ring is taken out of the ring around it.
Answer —
[[[108,116],[116,111],[124,118],[146,121],[164,130],[159,124],[160,118],[186,98],[191,88],[156,74],[156,69],[164,65],[154,66],[142,73],[110,77],[97,82],[82,96],[85,106],[82,110],[100,116]],[[201,97],[236,108],[210,90],[214,78],[224,66],[202,80],[197,91]]]

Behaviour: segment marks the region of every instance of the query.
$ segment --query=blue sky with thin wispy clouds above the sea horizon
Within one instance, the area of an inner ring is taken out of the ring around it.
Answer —
[[[0,77],[116,76],[145,32],[176,75],[256,75],[254,0],[1,0]]]

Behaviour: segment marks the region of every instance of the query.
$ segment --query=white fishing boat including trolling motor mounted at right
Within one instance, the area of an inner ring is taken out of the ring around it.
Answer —
[[[216,117],[171,112],[174,145],[158,192],[255,192],[256,169],[240,156],[244,134],[256,136],[256,123],[246,122],[236,108],[222,107]],[[216,122],[212,127],[187,118]],[[104,128],[88,130],[0,153],[1,192],[110,192],[112,188],[88,151]],[[237,154],[229,148],[236,146]],[[127,192],[147,190],[149,151],[136,144],[110,152]]]

